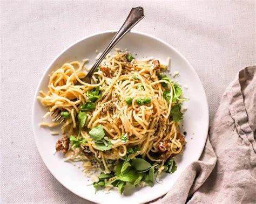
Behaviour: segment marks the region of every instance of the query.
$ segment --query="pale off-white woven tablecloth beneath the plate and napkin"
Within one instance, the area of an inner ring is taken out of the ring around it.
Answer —
[[[138,5],[146,17],[135,30],[159,37],[191,62],[210,121],[235,73],[256,64],[255,1],[1,1],[1,203],[90,203],[60,185],[40,158],[32,100],[60,51],[89,34],[118,29]]]

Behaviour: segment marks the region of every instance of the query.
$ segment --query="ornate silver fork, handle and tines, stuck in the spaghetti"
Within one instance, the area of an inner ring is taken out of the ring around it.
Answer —
[[[144,12],[143,8],[141,6],[138,6],[136,8],[132,8],[129,15],[127,16],[124,24],[120,28],[120,30],[115,34],[113,39],[110,41],[109,45],[105,48],[102,55],[100,55],[99,59],[95,62],[95,64],[92,66],[90,71],[86,74],[85,78],[81,79],[85,83],[91,84],[92,75],[99,66],[100,62],[106,57],[107,53],[111,51],[111,49],[118,43],[120,39],[122,39],[127,32],[129,32],[134,25],[136,25],[141,19],[144,18]],[[79,82],[76,83],[76,85],[81,85]],[[53,116],[53,121],[60,121],[60,124],[64,121],[63,116],[61,115],[60,109],[55,109],[53,112],[51,112],[51,116]],[[57,118],[57,119],[56,119]]]

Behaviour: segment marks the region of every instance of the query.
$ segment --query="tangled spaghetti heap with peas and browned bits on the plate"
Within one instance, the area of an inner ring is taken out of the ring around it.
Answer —
[[[38,96],[49,112],[67,112],[62,125],[64,140],[58,140],[56,150],[62,150],[70,160],[86,164],[90,160],[92,165],[84,165],[89,166],[87,169],[94,165],[110,173],[117,161],[129,154],[130,158],[159,164],[161,172],[165,161],[183,150],[185,140],[178,132],[183,100],[180,87],[161,75],[167,66],[158,60],[139,61],[129,56],[127,51],[107,55],[92,84],[81,80],[86,69],[80,62],[65,63],[50,74],[48,92],[41,91]],[[92,108],[88,110],[84,105]],[[85,122],[80,112],[85,113]],[[105,132],[100,142],[90,132],[97,127]]]

